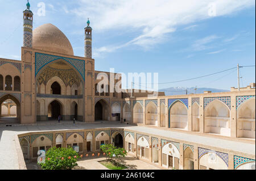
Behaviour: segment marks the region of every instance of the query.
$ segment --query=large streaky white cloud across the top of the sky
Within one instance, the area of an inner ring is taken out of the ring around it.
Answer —
[[[155,43],[162,43],[168,33],[174,32],[181,25],[213,18],[209,15],[210,3],[216,5],[216,16],[230,15],[255,6],[254,0],[79,0],[79,6],[69,12],[84,19],[84,23],[89,17],[94,31],[137,32],[137,37],[131,38],[125,45],[135,44],[149,48]],[[194,27],[195,25],[188,26],[187,30]],[[199,48],[205,47],[202,44]],[[104,48],[101,51],[104,52]],[[105,51],[108,52],[109,49],[106,48]]]

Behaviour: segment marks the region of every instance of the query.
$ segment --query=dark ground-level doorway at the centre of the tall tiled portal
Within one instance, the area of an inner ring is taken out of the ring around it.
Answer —
[[[53,100],[48,106],[48,120],[56,120],[58,116],[61,116],[61,120],[63,119],[62,113],[62,105],[59,101]]]

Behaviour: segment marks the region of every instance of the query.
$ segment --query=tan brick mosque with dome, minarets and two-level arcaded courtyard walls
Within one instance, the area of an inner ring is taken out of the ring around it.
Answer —
[[[84,29],[85,56],[75,56],[68,38],[53,24],[33,30],[33,13],[27,3],[23,11],[21,61],[0,58],[1,119],[16,115],[17,123],[33,124],[55,121],[61,116],[61,120],[75,118],[81,122],[120,121],[157,131],[110,128],[21,134],[24,159],[35,159],[42,146],[48,149],[76,144],[80,145],[81,153],[96,153],[100,151],[99,144],[113,142],[120,134],[122,146],[129,154],[159,167],[255,169],[255,149],[254,153],[230,151],[228,147],[158,134],[170,131],[255,147],[255,85],[239,91],[232,87],[230,92],[159,94],[155,98],[109,92],[108,86],[98,85],[97,75],[110,73],[94,68],[92,30],[88,19]],[[115,83],[121,80],[119,77]],[[98,87],[103,91],[99,92]],[[16,108],[15,114],[10,113],[11,107]],[[214,162],[209,162],[212,155],[216,155]]]

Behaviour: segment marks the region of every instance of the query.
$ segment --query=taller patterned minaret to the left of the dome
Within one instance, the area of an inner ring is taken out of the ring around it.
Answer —
[[[23,47],[32,48],[33,12],[27,0],[27,9],[23,11]]]

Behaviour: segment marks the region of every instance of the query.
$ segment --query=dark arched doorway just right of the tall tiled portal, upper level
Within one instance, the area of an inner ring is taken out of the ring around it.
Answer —
[[[109,104],[104,100],[101,99],[95,104],[94,108],[94,116],[95,120],[110,120],[110,107]]]

